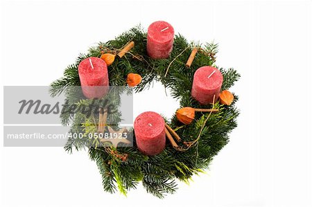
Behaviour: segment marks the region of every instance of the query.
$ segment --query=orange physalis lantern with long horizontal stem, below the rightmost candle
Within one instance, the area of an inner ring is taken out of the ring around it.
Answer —
[[[195,112],[218,112],[218,109],[194,109],[192,107],[183,107],[181,109],[177,109],[175,115],[177,116],[177,120],[180,122],[189,125],[192,123],[193,119],[195,118]]]

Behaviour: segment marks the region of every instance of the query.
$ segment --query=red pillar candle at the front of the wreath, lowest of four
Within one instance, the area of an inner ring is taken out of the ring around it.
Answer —
[[[164,118],[153,111],[146,111],[135,118],[137,147],[146,155],[159,154],[166,144]]]

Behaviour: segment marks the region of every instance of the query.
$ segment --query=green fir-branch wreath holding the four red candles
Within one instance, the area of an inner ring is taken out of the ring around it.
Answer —
[[[103,53],[116,54],[120,51],[119,48],[123,48],[130,41],[135,42],[135,47],[122,58],[116,57],[108,66],[111,86],[126,86],[127,75],[138,73],[142,80],[137,87],[132,88],[135,93],[148,89],[153,80],[157,80],[162,82],[164,87],[171,89],[171,96],[180,100],[180,107],[212,107],[218,109],[218,113],[196,113],[196,121],[189,125],[181,123],[175,115],[170,123],[165,118],[166,123],[173,129],[171,132],[179,134],[182,143],[179,143],[180,150],[177,150],[167,142],[164,151],[155,156],[142,154],[136,146],[135,137],[133,147],[90,146],[87,143],[89,139],[69,138],[64,149],[70,153],[74,149],[87,149],[90,159],[98,166],[103,188],[107,192],[119,190],[125,195],[141,181],[147,192],[163,198],[164,195],[175,192],[177,180],[188,183],[193,174],[207,169],[213,157],[228,143],[229,132],[236,127],[236,118],[239,116],[239,110],[235,107],[238,96],[234,95],[231,105],[223,105],[219,101],[214,105],[200,105],[191,97],[196,69],[201,66],[216,67],[217,44],[188,42],[179,34],[175,35],[171,56],[164,60],[153,60],[146,53],[146,32],[140,26],[131,28],[108,42],[99,42],[98,45],[89,48],[87,54],[80,54],[76,62],[65,69],[64,77],[51,84],[51,96],[58,96],[62,91],[66,91],[67,94],[73,93],[67,86],[80,86],[78,64],[82,60],[87,57],[101,57]],[[191,66],[187,67],[185,62],[194,47],[198,48],[198,53]],[[222,90],[229,89],[240,78],[234,69],[218,69],[223,74]],[[89,104],[89,100],[69,102],[69,105]],[[98,121],[99,115],[94,113],[92,118],[87,118],[83,114],[62,111],[60,118],[63,125],[69,125],[72,120],[72,133],[89,133],[96,132],[96,127],[92,124]],[[118,116],[108,116],[107,119],[119,122]]]

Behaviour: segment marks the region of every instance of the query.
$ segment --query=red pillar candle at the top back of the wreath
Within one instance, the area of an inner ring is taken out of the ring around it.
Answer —
[[[173,48],[175,31],[166,21],[155,21],[148,27],[147,53],[153,59],[168,58]]]

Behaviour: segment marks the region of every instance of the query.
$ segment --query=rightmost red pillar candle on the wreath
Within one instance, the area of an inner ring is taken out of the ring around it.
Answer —
[[[192,96],[200,104],[207,105],[218,99],[222,87],[222,73],[211,66],[202,66],[194,74]]]

